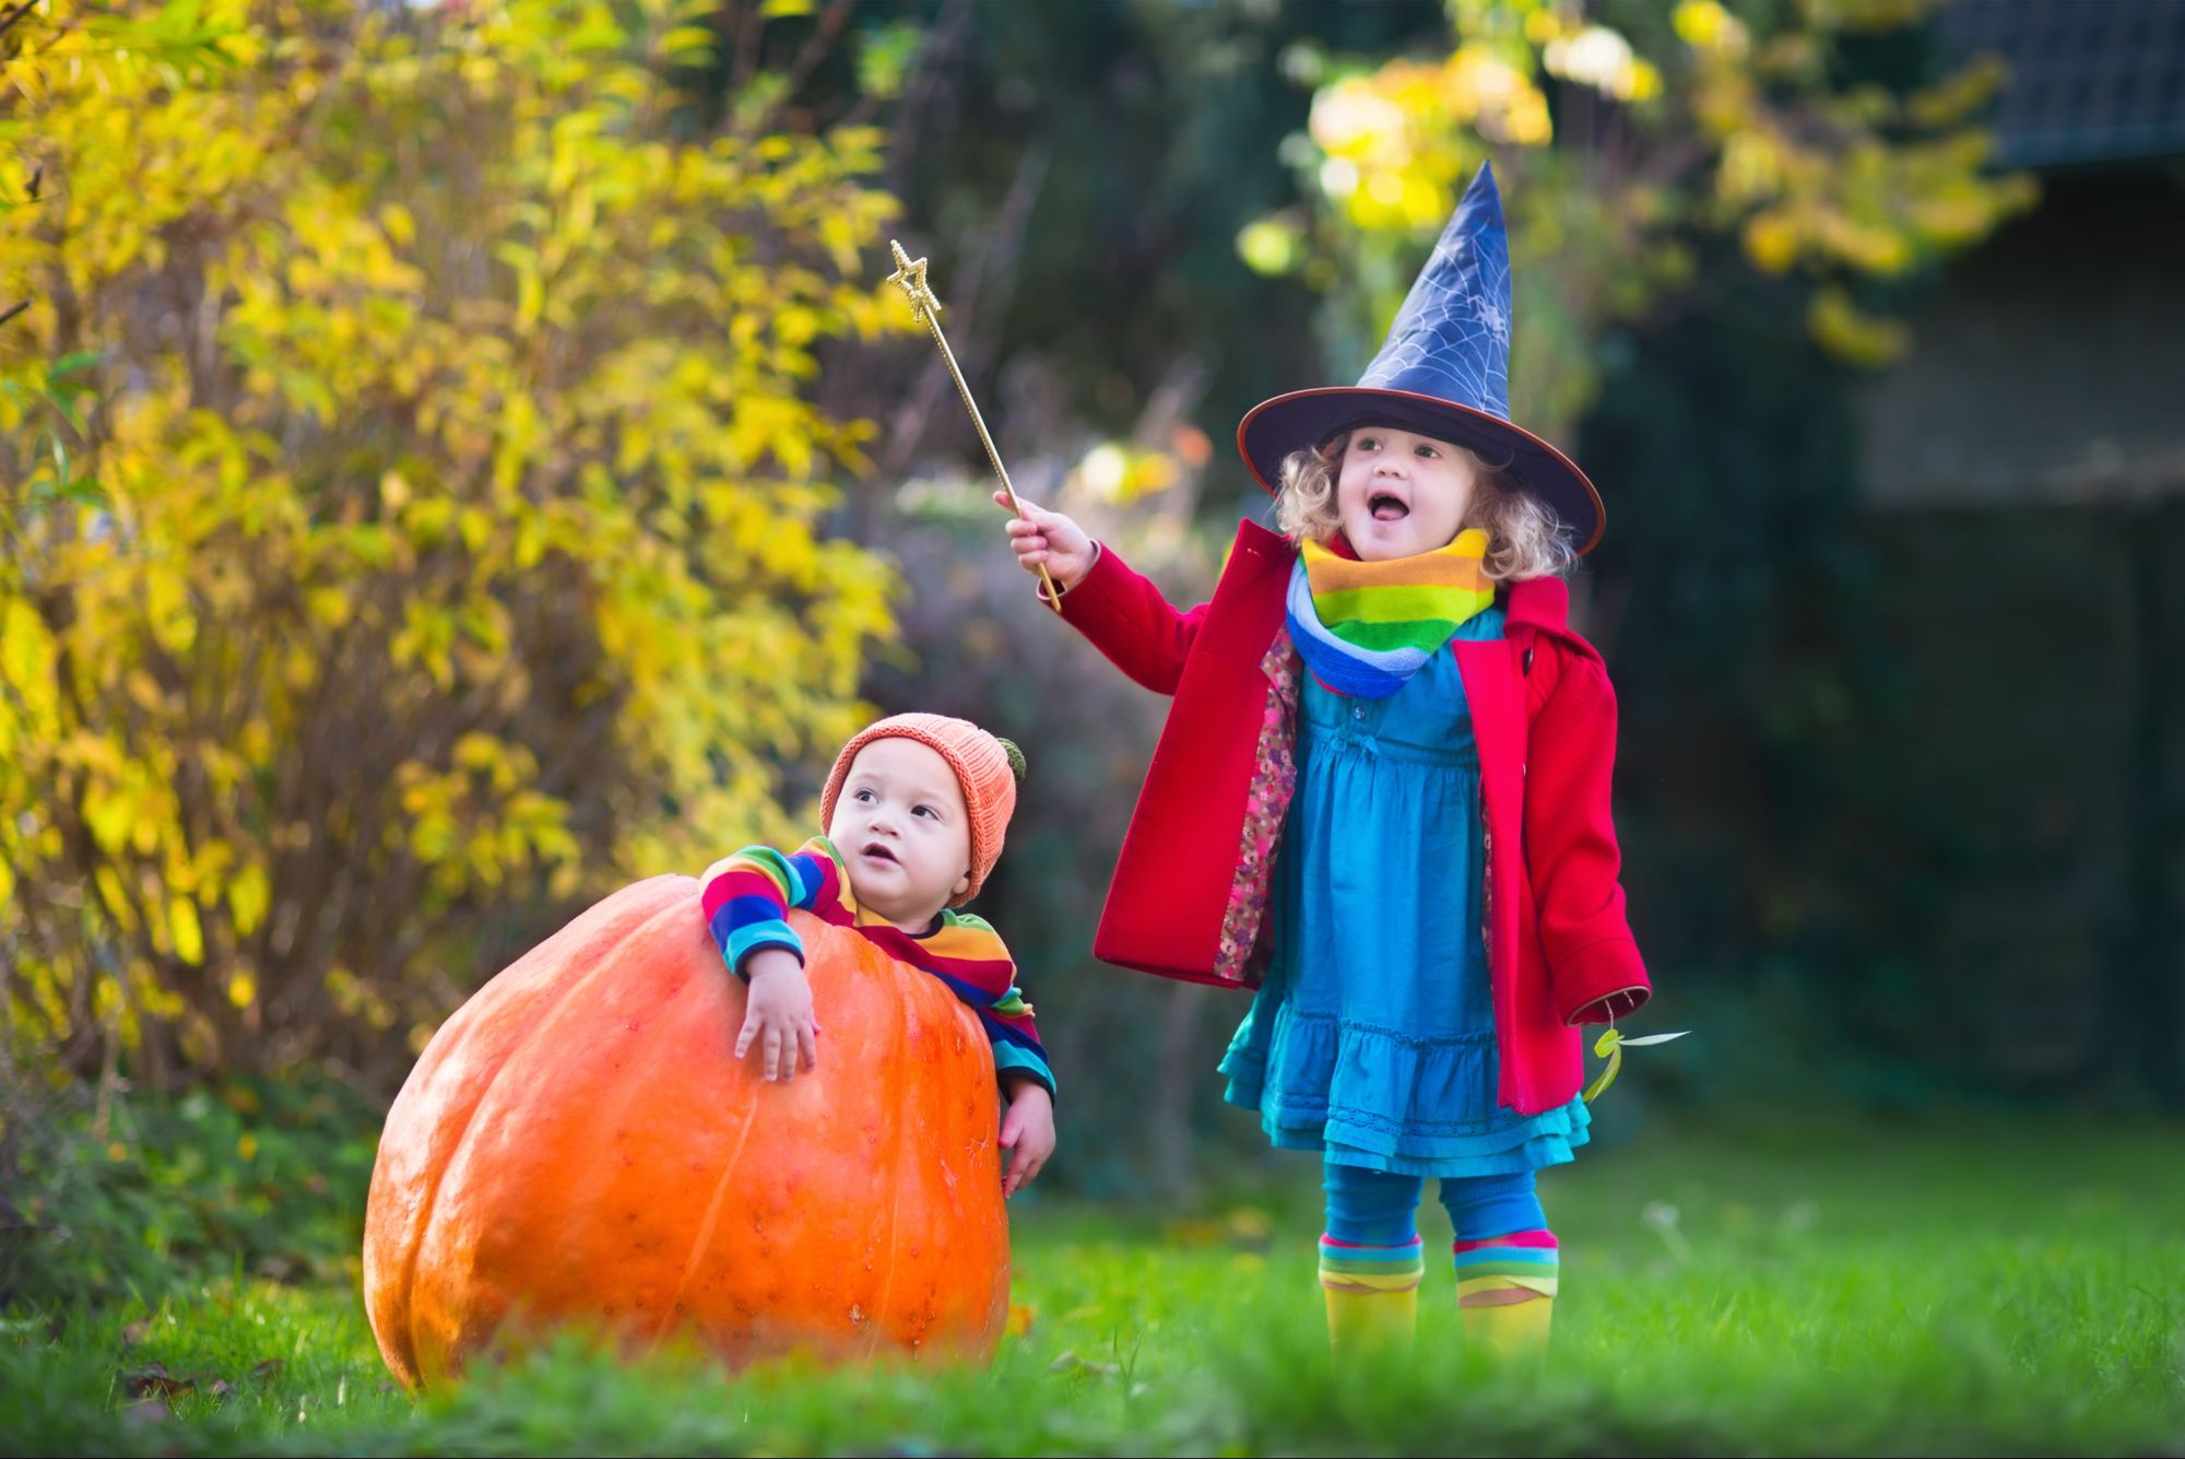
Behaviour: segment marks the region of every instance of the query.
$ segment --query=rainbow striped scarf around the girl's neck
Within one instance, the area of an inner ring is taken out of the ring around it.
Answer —
[[[1289,574],[1289,640],[1324,688],[1387,699],[1466,618],[1495,603],[1486,550],[1477,526],[1394,561],[1355,561],[1307,542]]]

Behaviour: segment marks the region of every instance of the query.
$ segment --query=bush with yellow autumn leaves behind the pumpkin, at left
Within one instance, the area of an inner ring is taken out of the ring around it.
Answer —
[[[894,631],[887,564],[824,531],[872,426],[811,400],[817,349],[905,328],[861,262],[894,203],[872,129],[706,122],[671,85],[706,11],[11,33],[22,1035],[367,1066],[555,900],[789,834],[782,769]]]

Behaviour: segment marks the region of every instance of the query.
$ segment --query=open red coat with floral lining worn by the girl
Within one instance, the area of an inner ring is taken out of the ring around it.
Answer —
[[[1274,839],[1296,784],[1298,653],[1283,601],[1296,548],[1254,522],[1210,603],[1176,612],[1106,546],[1062,616],[1145,688],[1173,695],[1092,952],[1189,983],[1254,987],[1269,957]],[[1479,743],[1499,1099],[1519,1114],[1582,1083],[1580,1022],[1652,985],[1623,920],[1608,815],[1617,701],[1569,629],[1560,579],[1508,592],[1501,640],[1453,640]]]

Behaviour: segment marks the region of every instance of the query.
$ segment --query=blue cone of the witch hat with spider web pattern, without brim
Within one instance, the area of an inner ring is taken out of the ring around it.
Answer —
[[[1481,181],[1449,218],[1359,384],[1444,395],[1510,419],[1510,238],[1501,197],[1486,173]]]

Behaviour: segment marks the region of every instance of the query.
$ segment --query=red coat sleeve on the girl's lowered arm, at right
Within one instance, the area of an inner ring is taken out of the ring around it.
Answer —
[[[1606,1022],[1652,996],[1623,915],[1623,854],[1608,810],[1617,697],[1597,660],[1569,653],[1534,714],[1525,767],[1525,871],[1556,1016]]]

